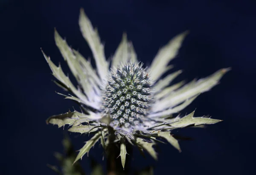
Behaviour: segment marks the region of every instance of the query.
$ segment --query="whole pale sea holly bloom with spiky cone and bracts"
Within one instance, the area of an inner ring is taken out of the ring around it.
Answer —
[[[180,151],[178,141],[171,134],[172,130],[221,121],[205,116],[194,117],[195,111],[183,117],[173,115],[188,106],[199,94],[217,85],[229,70],[221,69],[211,76],[193,80],[186,85],[183,81],[172,84],[172,80],[181,71],[161,78],[172,68],[168,64],[177,55],[187,32],[170,40],[158,51],[151,65],[143,68],[125,34],[113,57],[107,60],[97,30],[82,9],[79,26],[92,51],[96,70],[90,61],[70,48],[55,30],[56,45],[75,76],[78,88],[64,74],[61,66],[56,66],[43,52],[57,79],[55,83],[72,93],[73,95],[65,95],[66,99],[76,101],[81,108],[80,112],[69,111],[52,116],[47,119],[47,123],[57,124],[58,127],[68,124],[70,132],[94,134],[79,150],[75,162],[98,141],[105,149],[111,143],[119,144],[123,167],[127,144],[136,145],[157,159],[153,145],[162,142],[160,138],[166,139]]]

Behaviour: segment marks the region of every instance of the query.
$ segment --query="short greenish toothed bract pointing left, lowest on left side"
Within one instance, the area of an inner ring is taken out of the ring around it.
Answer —
[[[59,114],[59,115],[55,115],[55,116],[51,116],[46,120],[47,124],[57,124],[58,127],[62,127],[66,124],[68,125],[73,125],[73,123],[79,119],[79,116],[83,116],[84,114],[79,113],[77,111],[69,111],[67,113],[64,114]]]

